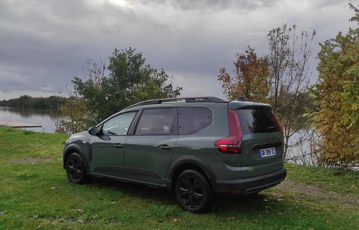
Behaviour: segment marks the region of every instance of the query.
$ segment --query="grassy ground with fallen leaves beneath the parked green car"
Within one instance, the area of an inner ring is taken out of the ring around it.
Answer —
[[[286,181],[258,197],[217,197],[210,212],[191,214],[165,190],[69,183],[67,138],[0,127],[0,229],[359,228],[358,172],[287,164]]]

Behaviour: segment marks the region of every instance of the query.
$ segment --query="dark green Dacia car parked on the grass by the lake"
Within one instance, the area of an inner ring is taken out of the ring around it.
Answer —
[[[214,194],[256,194],[279,184],[283,130],[268,104],[239,97],[155,99],[114,114],[66,141],[68,179],[90,176],[174,191],[205,211]]]

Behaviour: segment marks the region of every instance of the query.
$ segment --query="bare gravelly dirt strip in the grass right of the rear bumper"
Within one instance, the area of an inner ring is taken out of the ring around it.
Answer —
[[[281,196],[283,193],[293,194],[295,196],[306,196],[318,199],[321,202],[335,201],[340,203],[343,208],[359,209],[359,197],[353,194],[340,194],[332,191],[324,191],[315,185],[305,184],[297,181],[284,180],[273,194]]]

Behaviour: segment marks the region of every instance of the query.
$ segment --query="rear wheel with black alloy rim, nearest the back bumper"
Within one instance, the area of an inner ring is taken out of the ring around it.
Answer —
[[[175,196],[182,209],[200,213],[212,204],[212,189],[204,176],[196,170],[185,170],[176,180]]]

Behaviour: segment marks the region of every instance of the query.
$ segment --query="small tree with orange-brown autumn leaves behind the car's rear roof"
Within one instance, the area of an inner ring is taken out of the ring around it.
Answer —
[[[225,68],[219,70],[224,94],[228,99],[245,96],[248,99],[266,101],[270,91],[270,70],[267,57],[257,58],[254,49],[248,46],[243,54],[236,54],[234,77],[230,77]]]

